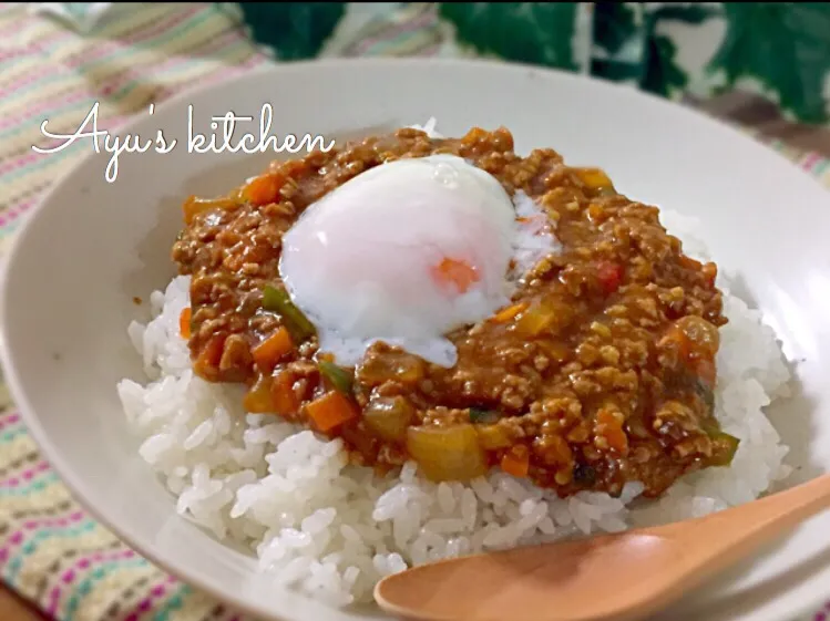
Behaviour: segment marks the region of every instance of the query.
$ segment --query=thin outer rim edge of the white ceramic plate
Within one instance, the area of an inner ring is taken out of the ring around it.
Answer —
[[[228,86],[234,85],[240,85],[243,83],[246,83],[248,81],[256,81],[258,79],[262,79],[263,75],[274,75],[278,76],[279,74],[284,74],[285,72],[290,71],[315,71],[317,68],[340,68],[344,71],[351,71],[351,72],[359,72],[363,69],[371,69],[372,66],[375,69],[380,69],[382,66],[401,66],[402,69],[406,69],[406,65],[418,65],[418,66],[426,66],[426,65],[443,65],[449,68],[455,68],[457,70],[463,69],[465,66],[477,66],[481,68],[482,70],[494,70],[494,71],[505,71],[505,72],[527,72],[529,74],[533,75],[540,75],[543,79],[553,79],[559,81],[565,81],[565,82],[591,82],[593,83],[592,87],[601,89],[601,90],[607,90],[616,91],[618,94],[622,93],[622,96],[629,96],[634,100],[642,100],[642,101],[650,101],[650,105],[658,105],[675,110],[682,110],[686,115],[696,116],[699,122],[707,123],[714,127],[719,128],[721,132],[726,132],[731,135],[731,139],[738,139],[742,141],[747,146],[749,144],[754,145],[752,148],[760,152],[766,152],[767,157],[772,156],[778,161],[778,165],[783,165],[789,167],[791,170],[797,170],[799,175],[802,178],[802,182],[809,183],[813,185],[813,188],[820,192],[827,192],[827,188],[823,184],[821,184],[814,176],[810,175],[806,170],[803,170],[801,167],[799,167],[797,164],[795,164],[791,159],[788,159],[785,157],[781,153],[770,148],[768,145],[766,145],[764,142],[758,139],[756,136],[741,131],[738,126],[732,125],[721,118],[715,117],[710,114],[707,114],[700,110],[696,110],[694,107],[690,107],[688,105],[683,105],[678,102],[655,95],[653,93],[642,91],[638,89],[635,89],[634,86],[617,83],[617,82],[611,82],[607,80],[602,80],[600,77],[595,77],[592,75],[586,75],[582,73],[573,73],[567,72],[564,70],[555,69],[555,68],[545,68],[545,66],[539,66],[539,65],[532,65],[527,63],[522,62],[508,62],[508,61],[499,61],[499,60],[491,60],[491,59],[448,59],[448,58],[441,58],[441,59],[432,59],[432,58],[326,58],[326,59],[310,59],[310,60],[299,60],[299,61],[291,61],[286,63],[279,63],[279,64],[264,64],[259,65],[253,70],[248,71],[242,71],[235,75],[230,75],[224,80],[205,84],[205,85],[193,85],[193,86],[186,86],[175,93],[174,95],[171,95],[170,97],[165,99],[164,101],[160,103],[155,103],[155,108],[157,112],[166,111],[167,108],[175,108],[178,106],[182,106],[183,103],[185,103],[188,99],[194,96],[205,96],[206,94],[215,91],[219,91],[222,89],[227,89]],[[244,90],[243,90],[244,92]],[[111,132],[112,133],[123,133],[129,132],[134,127],[136,124],[141,123],[143,120],[142,116],[139,114],[133,115],[132,117],[127,118],[123,123],[117,124],[114,126]],[[119,540],[121,540],[125,546],[129,548],[135,550],[139,552],[142,557],[151,561],[153,565],[157,566],[160,569],[173,575],[174,577],[178,578],[183,582],[193,586],[197,588],[198,590],[209,594],[214,599],[225,602],[229,606],[232,606],[234,609],[236,609],[238,612],[253,615],[254,618],[262,618],[264,620],[285,620],[287,619],[283,612],[279,610],[274,609],[267,609],[265,607],[260,607],[256,603],[248,603],[245,599],[242,599],[238,597],[235,592],[229,591],[223,591],[221,589],[219,584],[213,584],[212,580],[209,579],[203,579],[199,572],[197,571],[191,571],[184,566],[180,566],[175,561],[174,555],[166,555],[164,553],[161,548],[158,548],[158,552],[150,549],[152,546],[147,545],[145,546],[142,542],[139,542],[134,540],[130,535],[125,534],[115,522],[114,520],[110,520],[110,518],[106,516],[106,513],[104,510],[99,510],[98,507],[94,506],[94,504],[90,500],[88,500],[85,494],[82,491],[83,484],[81,483],[79,477],[75,477],[73,475],[73,469],[70,467],[70,465],[63,460],[63,458],[60,456],[60,451],[57,448],[55,443],[53,443],[50,439],[50,434],[47,432],[45,427],[41,425],[40,417],[34,412],[34,408],[31,406],[31,403],[27,399],[25,391],[22,387],[22,382],[20,376],[18,375],[18,371],[16,366],[11,363],[13,356],[9,352],[7,342],[7,333],[8,324],[7,324],[7,308],[9,308],[12,304],[12,301],[10,299],[10,296],[8,294],[8,286],[7,281],[9,279],[9,275],[11,272],[11,268],[14,262],[14,258],[19,253],[19,248],[22,247],[24,244],[27,235],[31,232],[31,225],[32,222],[38,218],[38,216],[44,211],[45,205],[50,204],[54,196],[60,194],[60,190],[65,186],[72,177],[75,176],[78,170],[82,167],[84,167],[91,159],[99,156],[93,149],[88,151],[84,155],[79,157],[75,163],[69,167],[66,170],[64,170],[61,175],[55,178],[54,183],[47,189],[47,192],[43,193],[43,195],[38,199],[37,204],[32,206],[32,208],[24,214],[19,222],[17,230],[14,230],[11,236],[10,240],[8,242],[8,247],[6,248],[6,251],[0,255],[0,262],[2,263],[0,266],[0,373],[2,374],[2,379],[4,380],[10,396],[12,397],[11,401],[18,412],[20,413],[21,417],[23,418],[25,423],[27,431],[31,435],[32,439],[38,445],[38,449],[43,454],[43,456],[49,462],[52,469],[58,475],[61,483],[66,486],[69,491],[71,493],[72,499],[78,503],[81,507],[86,510],[91,517],[93,517],[101,526],[103,526],[105,529],[110,530],[113,535],[116,536]],[[798,567],[798,565],[792,566]],[[809,578],[805,580],[803,582],[808,582]],[[803,583],[802,582],[802,583]],[[792,590],[792,589],[791,589]],[[311,598],[307,598],[311,599]],[[772,600],[775,601],[775,600]],[[814,608],[820,608],[823,603],[823,597],[817,596],[817,598],[813,600],[811,598],[805,598],[802,600],[802,603],[798,606],[798,610],[793,610],[791,612],[791,615],[788,617],[779,617],[772,610],[768,610],[767,613],[761,612],[760,614],[752,613],[752,621],[791,621],[792,619],[797,619],[799,615],[807,614],[809,611],[811,611]],[[664,607],[662,609],[663,612],[669,610],[669,607],[672,604],[668,604],[668,607]],[[709,607],[707,607],[708,609]],[[718,607],[715,607],[715,610],[717,610]]]

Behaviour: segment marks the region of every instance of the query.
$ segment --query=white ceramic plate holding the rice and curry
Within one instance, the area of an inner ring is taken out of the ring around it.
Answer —
[[[736,131],[629,87],[492,63],[298,63],[137,120],[125,132],[154,138],[162,128],[178,146],[123,155],[113,184],[109,154],[90,155],[30,216],[8,258],[0,311],[13,397],[79,500],[148,558],[263,619],[369,614],[275,590],[252,558],[178,518],[137,457],[115,393],[120,377],[141,377],[126,337],[132,299],[173,276],[182,200],[226,192],[271,157],[188,154],[187,105],[205,132],[212,115],[258,116],[266,102],[279,135],[360,135],[433,115],[445,135],[505,125],[516,151],[553,147],[571,164],[602,166],[628,196],[698,217],[717,260],[744,277],[741,293],[799,361],[796,397],[772,413],[793,448],[791,480],[830,472],[830,195],[814,180]],[[830,594],[829,532],[830,514],[816,517],[663,618],[796,617]]]

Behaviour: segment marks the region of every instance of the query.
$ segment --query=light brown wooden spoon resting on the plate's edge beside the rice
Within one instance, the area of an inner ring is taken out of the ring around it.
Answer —
[[[423,621],[632,621],[830,508],[830,475],[707,517],[486,555],[389,576],[387,612]]]

